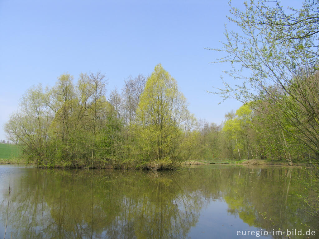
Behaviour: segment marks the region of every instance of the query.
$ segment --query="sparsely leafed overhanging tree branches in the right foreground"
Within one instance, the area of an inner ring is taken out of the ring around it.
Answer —
[[[219,61],[231,63],[227,73],[236,84],[224,82],[217,93],[251,102],[262,122],[258,128],[255,121],[255,132],[271,147],[266,151],[291,162],[292,148],[303,154],[301,160],[318,161],[318,1],[288,11],[277,1],[250,1],[243,10],[230,6],[229,20],[239,31],[226,29],[226,42],[217,50],[226,53]]]

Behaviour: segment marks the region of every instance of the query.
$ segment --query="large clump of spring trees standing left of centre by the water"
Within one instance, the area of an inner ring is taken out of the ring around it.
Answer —
[[[159,64],[105,97],[104,75],[63,74],[32,87],[5,131],[39,167],[174,168],[196,157],[196,119],[175,79]],[[186,148],[186,150],[184,150]]]

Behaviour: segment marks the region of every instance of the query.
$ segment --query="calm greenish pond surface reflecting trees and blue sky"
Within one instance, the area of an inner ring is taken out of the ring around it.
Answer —
[[[258,238],[311,228],[300,168],[205,165],[177,172],[0,165],[0,238]],[[11,193],[8,197],[9,181]],[[7,211],[9,201],[9,211]],[[308,225],[308,226],[303,226]],[[247,232],[246,232],[247,233]]]

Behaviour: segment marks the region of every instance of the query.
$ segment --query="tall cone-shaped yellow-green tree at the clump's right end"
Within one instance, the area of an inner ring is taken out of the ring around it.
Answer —
[[[162,67],[155,66],[148,77],[137,106],[137,133],[146,161],[181,159],[194,117],[189,113],[184,95],[176,80]]]

